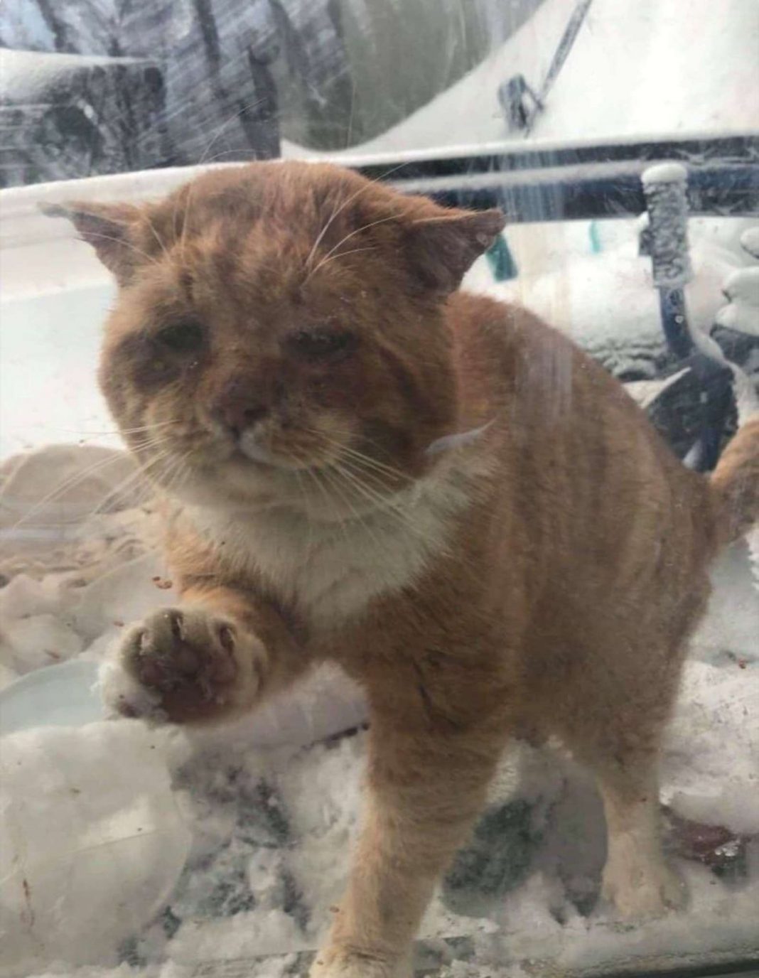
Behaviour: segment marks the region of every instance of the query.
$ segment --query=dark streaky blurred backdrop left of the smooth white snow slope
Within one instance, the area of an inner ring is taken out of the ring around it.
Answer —
[[[539,5],[14,0],[0,8],[0,179],[346,149],[450,87]]]

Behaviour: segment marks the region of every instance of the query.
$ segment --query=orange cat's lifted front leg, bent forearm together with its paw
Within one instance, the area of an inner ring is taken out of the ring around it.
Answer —
[[[132,626],[106,682],[110,705],[125,716],[174,723],[223,720],[245,712],[294,679],[305,658],[271,609],[225,588],[188,592]],[[267,613],[268,610],[268,613]]]

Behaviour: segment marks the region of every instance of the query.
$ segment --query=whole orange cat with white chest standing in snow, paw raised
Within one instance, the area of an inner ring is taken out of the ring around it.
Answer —
[[[100,380],[169,510],[181,603],[125,669],[181,723],[326,659],[366,689],[364,830],[312,975],[410,974],[518,733],[595,772],[618,910],[680,906],[657,752],[709,561],[759,513],[759,421],[694,474],[562,335],[457,291],[497,211],[272,162],[53,212],[118,280]]]

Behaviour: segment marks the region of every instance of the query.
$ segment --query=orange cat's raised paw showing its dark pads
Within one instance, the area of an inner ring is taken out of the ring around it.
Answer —
[[[252,703],[264,649],[234,622],[198,607],[162,608],[129,630],[118,665],[136,684],[111,697],[125,716],[178,723],[221,718]]]

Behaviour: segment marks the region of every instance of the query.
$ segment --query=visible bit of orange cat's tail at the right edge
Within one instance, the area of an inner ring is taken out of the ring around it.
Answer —
[[[742,424],[711,474],[720,540],[732,543],[759,520],[759,415]]]

